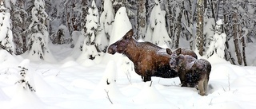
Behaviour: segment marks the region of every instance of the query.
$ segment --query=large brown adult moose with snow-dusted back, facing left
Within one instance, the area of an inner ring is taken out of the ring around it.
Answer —
[[[110,45],[107,53],[122,53],[126,55],[134,63],[134,71],[142,76],[144,82],[150,81],[151,76],[162,78],[174,78],[178,76],[170,68],[170,49],[162,49],[158,45],[150,42],[138,42],[133,37],[133,29],[130,29],[119,41]],[[184,55],[197,55],[188,49],[182,49]]]

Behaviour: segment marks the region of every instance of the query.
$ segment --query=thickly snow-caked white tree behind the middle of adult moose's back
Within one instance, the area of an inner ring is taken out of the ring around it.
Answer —
[[[147,35],[151,35],[151,41],[156,45],[167,45],[170,47],[170,37],[166,30],[166,11],[161,10],[160,3],[155,0],[155,6],[150,14],[150,28],[147,30]],[[150,33],[153,32],[153,33]],[[147,36],[149,37],[149,36]]]

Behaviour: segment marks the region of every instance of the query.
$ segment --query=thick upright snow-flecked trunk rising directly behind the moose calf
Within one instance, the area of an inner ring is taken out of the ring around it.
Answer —
[[[204,14],[204,0],[198,0],[198,21],[197,21],[197,36],[196,47],[199,55],[202,56],[203,52],[203,14]]]

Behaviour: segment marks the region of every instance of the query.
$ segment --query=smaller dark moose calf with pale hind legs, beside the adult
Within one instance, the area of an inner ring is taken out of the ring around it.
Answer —
[[[169,51],[170,52],[170,51]],[[196,59],[193,56],[183,55],[182,49],[169,53],[170,68],[178,72],[182,87],[198,88],[199,95],[206,95],[211,65],[205,59]]]

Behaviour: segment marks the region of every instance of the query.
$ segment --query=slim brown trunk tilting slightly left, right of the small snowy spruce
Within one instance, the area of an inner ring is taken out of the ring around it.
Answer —
[[[233,14],[233,36],[234,36],[234,49],[238,57],[238,64],[242,64],[242,55],[239,48],[239,39],[238,39],[238,15],[237,13]]]

